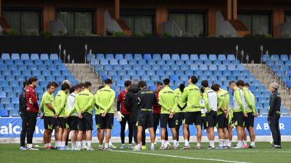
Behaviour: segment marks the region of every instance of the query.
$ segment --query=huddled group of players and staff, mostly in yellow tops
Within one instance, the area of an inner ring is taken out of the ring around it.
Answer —
[[[36,94],[34,88],[36,88],[38,80],[36,77],[34,78],[31,81],[29,79],[29,83],[25,81],[27,84],[25,86],[25,89],[27,88],[25,99],[27,111],[34,108],[35,112],[40,113],[39,110],[41,110],[43,113],[40,118],[44,119],[45,125],[43,134],[45,149],[94,150],[91,147],[92,116],[95,116],[98,129],[98,150],[109,151],[116,148],[111,142],[115,99],[115,91],[111,89],[111,79],[105,79],[104,86],[99,87],[96,95],[92,95],[90,92],[92,86],[90,82],[71,86],[71,82],[66,80],[62,84],[62,89],[54,97],[53,92],[57,90],[58,84],[51,82],[47,85],[47,91],[42,96],[39,109],[37,97],[32,95]],[[147,149],[145,147],[145,129],[149,129],[151,150],[155,150],[155,132],[159,124],[162,142],[160,149],[168,149],[165,146],[165,142],[168,141],[167,125],[173,134],[173,149],[179,147],[179,128],[181,125],[185,141],[185,145],[181,149],[190,149],[189,125],[193,125],[193,123],[197,128],[196,149],[201,148],[202,129],[206,129],[210,142],[210,146],[206,149],[255,148],[253,124],[257,112],[255,110],[255,97],[249,90],[249,84],[242,80],[229,82],[229,88],[233,90],[233,108],[231,109],[229,107],[229,92],[221,89],[219,84],[214,83],[210,88],[207,80],[203,80],[201,82],[202,88],[199,89],[195,85],[198,79],[194,75],[188,81],[189,86],[185,87],[184,84],[181,84],[176,90],[170,89],[170,79],[164,79],[163,82],[164,84],[157,82],[155,91],[147,88],[146,82],[138,82],[138,79],[125,82],[125,90],[120,92],[117,99],[117,121],[121,123],[121,149],[125,148],[126,123],[128,123],[129,128],[128,147],[135,151]],[[92,115],[92,110],[95,110],[95,115]],[[231,147],[233,126],[236,126],[238,143]],[[214,147],[214,127],[218,131],[218,147]],[[245,127],[251,138],[250,146],[246,145]],[[51,145],[53,129],[55,129],[55,147]],[[32,130],[33,133],[34,129]],[[71,148],[66,143],[70,131]],[[31,133],[31,129],[28,133]],[[105,147],[103,147],[104,134]],[[135,145],[131,145],[132,137],[134,137]],[[83,147],[81,147],[81,143],[83,143]],[[21,149],[37,150],[32,147],[32,138],[29,138],[28,147],[24,146],[25,144],[23,145],[22,142]]]

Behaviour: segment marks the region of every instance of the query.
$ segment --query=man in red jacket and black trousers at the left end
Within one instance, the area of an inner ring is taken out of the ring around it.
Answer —
[[[34,136],[34,130],[36,129],[36,120],[40,109],[38,108],[38,97],[36,97],[36,85],[38,79],[36,77],[30,77],[29,87],[25,91],[25,99],[27,103],[26,114],[28,116],[28,131],[27,131],[27,150],[38,150],[32,147],[32,138]]]

